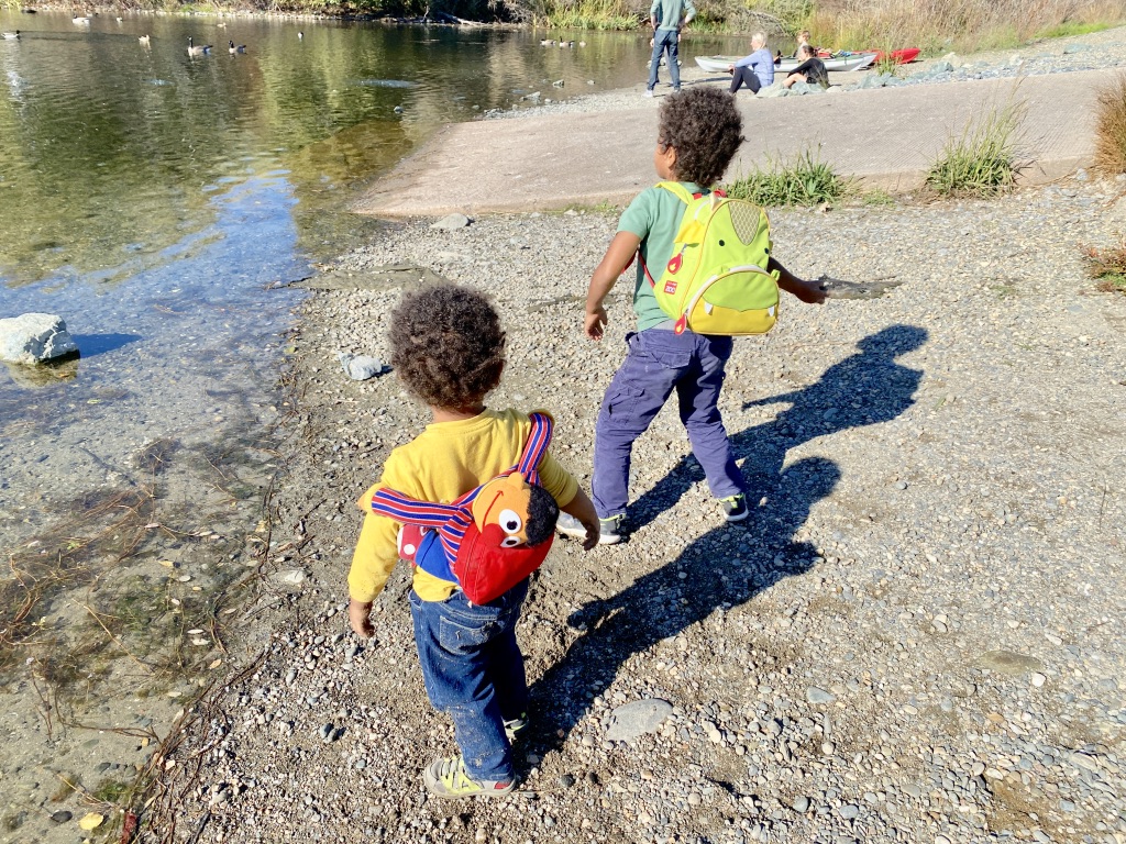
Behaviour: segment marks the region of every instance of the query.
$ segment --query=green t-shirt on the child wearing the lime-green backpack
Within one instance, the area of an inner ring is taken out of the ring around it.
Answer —
[[[690,181],[680,182],[689,194],[703,192]],[[641,257],[656,281],[664,272],[664,264],[672,258],[672,244],[685,215],[685,204],[677,195],[664,188],[646,188],[629,203],[618,221],[619,232],[629,232],[641,237]],[[636,262],[637,278],[634,282],[634,313],[637,314],[637,331],[645,331],[671,317],[656,304],[653,287],[645,278],[641,261]]]

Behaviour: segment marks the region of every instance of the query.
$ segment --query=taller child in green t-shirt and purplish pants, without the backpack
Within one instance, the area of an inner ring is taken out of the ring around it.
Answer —
[[[692,195],[707,194],[742,142],[742,118],[734,99],[716,88],[694,88],[662,104],[653,165],[661,180],[679,181]],[[618,232],[590,279],[586,332],[591,340],[601,340],[607,323],[602,303],[634,254],[641,255],[633,297],[637,331],[626,334],[626,359],[606,390],[595,429],[591,490],[604,545],[623,537],[634,440],[673,390],[692,454],[727,521],[748,515],[743,476],[717,406],[732,339],[687,330],[676,333],[673,320],[661,309],[645,277],[645,267],[664,267],[671,258],[685,207],[664,188],[643,190],[622,215]],[[802,302],[824,300],[815,282],[793,276],[774,258],[767,270],[778,270],[778,287]],[[579,526],[562,518],[560,524],[568,527],[565,533],[582,535]]]

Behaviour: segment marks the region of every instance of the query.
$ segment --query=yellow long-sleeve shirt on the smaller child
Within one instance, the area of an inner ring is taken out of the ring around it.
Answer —
[[[420,501],[448,504],[515,466],[531,430],[519,411],[484,411],[458,422],[435,422],[418,437],[387,455],[379,483],[356,504],[366,513],[348,591],[356,601],[373,600],[387,583],[399,560],[399,523],[372,512],[379,488],[395,490]],[[539,484],[562,508],[571,503],[579,482],[548,452],[539,464]],[[445,601],[457,584],[414,569],[414,591],[423,601]]]

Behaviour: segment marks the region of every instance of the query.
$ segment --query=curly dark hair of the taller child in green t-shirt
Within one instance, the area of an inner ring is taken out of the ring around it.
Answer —
[[[658,143],[677,151],[677,178],[709,188],[723,177],[743,137],[735,98],[718,88],[691,88],[661,104]]]

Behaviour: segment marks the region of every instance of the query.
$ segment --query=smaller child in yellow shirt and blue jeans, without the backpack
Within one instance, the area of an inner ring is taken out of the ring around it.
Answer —
[[[358,502],[367,515],[348,574],[348,614],[364,638],[374,632],[372,601],[399,558],[400,526],[372,511],[373,495],[393,490],[419,501],[453,502],[516,466],[533,430],[519,411],[484,406],[504,368],[504,331],[482,294],[452,284],[406,294],[392,313],[390,340],[392,366],[427,404],[432,423],[387,456],[379,483]],[[598,518],[590,499],[549,452],[538,465],[538,481],[561,510],[587,526],[586,548],[593,548]],[[554,529],[554,513],[547,524],[533,524],[535,518],[533,510],[524,526],[529,545]],[[421,566],[412,586],[427,697],[449,712],[462,751],[428,765],[426,787],[439,797],[507,794],[516,784],[511,739],[527,725],[528,688],[515,629],[528,578],[484,605]]]

